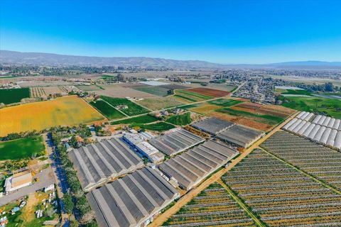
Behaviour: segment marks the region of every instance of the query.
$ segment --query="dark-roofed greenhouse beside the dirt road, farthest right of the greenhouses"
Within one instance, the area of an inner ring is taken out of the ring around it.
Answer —
[[[227,130],[217,133],[217,138],[224,140],[227,143],[247,148],[249,145],[261,138],[262,135],[264,135],[264,132],[262,131],[235,124],[227,128]]]

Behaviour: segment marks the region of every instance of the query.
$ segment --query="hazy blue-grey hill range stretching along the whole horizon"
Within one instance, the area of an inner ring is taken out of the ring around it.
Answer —
[[[217,64],[199,60],[171,60],[156,57],[87,57],[75,55],[57,55],[41,52],[16,52],[0,50],[0,63],[10,65],[45,65],[45,66],[122,66],[122,67],[167,67],[173,69],[307,69],[341,70],[341,62],[302,61],[279,62],[264,65],[252,64]]]

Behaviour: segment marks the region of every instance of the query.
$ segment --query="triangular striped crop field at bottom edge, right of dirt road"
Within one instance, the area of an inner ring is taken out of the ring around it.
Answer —
[[[195,196],[163,226],[256,226],[236,201],[218,183]]]

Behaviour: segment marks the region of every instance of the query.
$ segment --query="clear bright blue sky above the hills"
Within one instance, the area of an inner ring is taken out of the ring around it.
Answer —
[[[0,1],[0,48],[220,63],[341,61],[341,1]]]

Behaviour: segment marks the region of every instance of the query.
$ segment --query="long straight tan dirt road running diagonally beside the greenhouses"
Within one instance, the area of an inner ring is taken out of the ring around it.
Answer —
[[[251,153],[252,150],[254,150],[255,148],[259,148],[259,145],[261,145],[261,143],[263,143],[265,140],[267,140],[271,135],[274,135],[274,133],[276,133],[283,126],[285,126],[286,123],[291,121],[297,114],[298,114],[298,112],[289,116],[286,119],[286,121],[283,121],[282,123],[280,123],[271,132],[267,133],[266,135],[264,135],[264,137],[257,140],[256,143],[254,143],[249,148],[244,150],[244,152],[241,155],[239,155],[239,157],[237,157],[235,160],[232,160],[231,164],[227,168],[224,168],[224,169],[216,172],[214,175],[212,175],[211,177],[206,179],[204,182],[202,182],[199,186],[195,187],[194,189],[190,190],[187,194],[183,195],[175,203],[174,206],[172,206],[170,209],[165,211],[163,214],[160,214],[159,216],[157,216],[154,219],[154,221],[150,224],[150,226],[162,226],[162,224],[165,221],[167,221],[168,218],[170,218],[173,214],[175,214],[182,206],[185,206],[185,204],[187,204],[191,199],[193,199],[194,196],[197,196],[197,194],[199,194],[203,189],[207,188],[213,182],[217,182],[220,179],[220,177],[222,177],[222,175],[224,175],[224,173],[231,170],[232,167],[237,165],[238,162],[240,162],[244,157],[249,155],[249,153]]]

